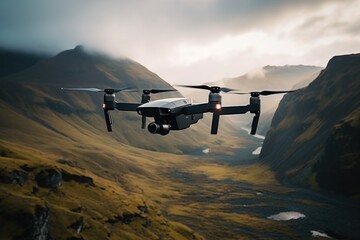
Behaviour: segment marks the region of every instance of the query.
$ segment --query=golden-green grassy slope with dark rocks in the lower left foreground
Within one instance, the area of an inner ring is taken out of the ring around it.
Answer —
[[[86,164],[82,161],[67,160],[69,166],[59,163],[60,159],[56,155],[44,154],[3,141],[0,146],[4,153],[4,157],[0,158],[2,173],[14,171],[27,173],[27,180],[22,186],[15,183],[1,184],[0,218],[1,222],[5,223],[0,227],[2,238],[22,236],[29,226],[24,226],[17,216],[34,214],[36,205],[47,206],[50,209],[49,232],[51,237],[57,239],[79,236],[85,239],[198,238],[182,224],[166,220],[154,203],[133,185],[135,183],[121,179],[122,174],[107,172],[114,169],[116,163],[113,163],[111,168],[100,166],[98,163],[96,171],[92,172],[85,170]],[[146,160],[140,161],[146,164]],[[36,174],[42,169],[57,169],[77,176],[87,176],[93,179],[94,186],[67,181],[55,189],[42,188],[34,181]],[[123,174],[126,172],[125,170]],[[151,173],[147,174],[151,175]],[[39,190],[34,193],[34,188]],[[146,211],[141,210],[141,207],[145,207]],[[138,217],[130,223],[123,223],[120,220],[111,222],[116,217],[126,214]],[[77,233],[69,226],[81,218],[85,226],[80,233]],[[145,226],[145,222],[148,225]],[[17,231],[12,231],[14,229]]]

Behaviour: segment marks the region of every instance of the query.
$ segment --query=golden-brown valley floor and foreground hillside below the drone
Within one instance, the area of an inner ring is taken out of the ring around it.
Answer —
[[[4,141],[0,145],[1,208],[16,216],[34,205],[48,206],[52,237],[307,239],[316,231],[356,239],[360,234],[356,200],[280,185],[271,169],[251,154],[261,141],[224,159],[106,144],[65,147],[61,155],[46,147],[35,150]],[[15,177],[5,183],[4,169],[28,175],[23,182]],[[38,186],[35,173],[44,169],[62,172],[62,184]],[[65,180],[66,175],[73,179]],[[27,204],[18,204],[25,199]],[[287,221],[270,219],[279,213],[290,216]],[[297,214],[304,217],[296,219]],[[70,227],[79,220],[80,230]],[[53,224],[67,230],[58,232]],[[9,230],[15,226],[4,225],[0,232],[9,235],[2,236],[13,236]]]

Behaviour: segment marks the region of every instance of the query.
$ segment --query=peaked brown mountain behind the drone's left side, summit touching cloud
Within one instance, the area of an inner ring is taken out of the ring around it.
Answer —
[[[209,142],[210,129],[204,123],[163,137],[141,129],[141,118],[136,112],[112,112],[113,132],[108,133],[101,108],[103,94],[65,92],[60,90],[61,87],[131,87],[139,92],[118,93],[117,99],[134,103],[140,102],[143,89],[173,89],[139,63],[90,53],[79,46],[2,78],[2,114],[21,117],[22,123],[34,125],[37,131],[29,129],[29,135],[46,131],[54,138],[73,139],[74,130],[86,129],[99,137],[114,138],[124,144],[176,153],[202,149],[204,143]],[[165,97],[181,95],[177,92],[152,95],[153,100]],[[3,122],[0,134],[15,136],[8,129],[17,129],[16,124],[18,121]]]

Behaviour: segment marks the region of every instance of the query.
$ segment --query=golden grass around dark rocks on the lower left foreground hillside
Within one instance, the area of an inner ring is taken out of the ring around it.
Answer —
[[[114,184],[113,179],[103,178],[88,170],[73,168],[67,165],[59,164],[55,160],[56,155],[47,155],[47,158],[37,155],[37,151],[30,151],[22,146],[15,144],[0,142],[1,149],[6,149],[16,155],[26,155],[27,159],[17,159],[10,157],[0,158],[0,168],[6,171],[20,169],[20,166],[27,165],[34,168],[34,173],[29,174],[30,180],[24,186],[17,186],[14,184],[1,185],[1,209],[6,209],[8,214],[24,209],[24,202],[29,203],[26,211],[32,211],[34,206],[44,206],[47,202],[50,208],[50,232],[52,237],[66,238],[76,236],[77,233],[67,227],[75,222],[80,217],[84,218],[86,228],[81,232],[81,236],[85,238],[104,239],[111,233],[111,238],[118,239],[143,239],[140,236],[146,236],[148,239],[158,239],[158,236],[166,233],[168,239],[189,239],[193,236],[192,231],[181,224],[164,225],[165,218],[157,210],[157,207],[152,206],[152,201],[136,189],[137,181],[132,176],[125,176],[127,178],[127,186]],[[139,159],[136,159],[139,161]],[[109,162],[109,161],[108,161]],[[110,164],[104,169],[116,166],[116,163]],[[75,175],[85,175],[91,177],[95,183],[95,187],[85,186],[83,184],[70,181],[63,182],[60,188],[49,190],[39,188],[39,191],[33,195],[31,191],[35,183],[31,181],[39,169],[56,168],[58,170],[70,172]],[[100,174],[101,175],[101,174]],[[151,172],[149,173],[151,175]],[[125,188],[124,188],[125,187]],[[128,190],[126,190],[128,189]],[[138,186],[141,189],[141,186]],[[143,190],[142,190],[143,191]],[[155,192],[150,195],[158,194]],[[135,219],[130,224],[116,224],[117,230],[109,230],[112,228],[111,224],[105,223],[108,219],[115,219],[116,216],[122,214],[140,214],[138,206],[148,206],[148,213],[145,217],[151,221],[151,226],[145,228],[142,226],[144,221],[142,218]],[[73,212],[72,209],[81,207],[81,212]],[[21,210],[22,211],[22,210]],[[10,222],[6,225],[9,229],[19,228],[19,226]],[[20,228],[21,229],[21,228]],[[5,231],[5,229],[0,229]],[[141,234],[139,235],[139,230]],[[18,231],[19,232],[19,231]],[[20,231],[21,233],[21,231]],[[11,235],[11,234],[10,234]],[[196,237],[201,239],[201,237]]]

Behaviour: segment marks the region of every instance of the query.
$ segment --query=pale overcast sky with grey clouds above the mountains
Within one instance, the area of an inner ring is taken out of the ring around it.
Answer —
[[[359,12],[360,0],[1,0],[0,46],[82,44],[170,83],[203,83],[359,53]]]

